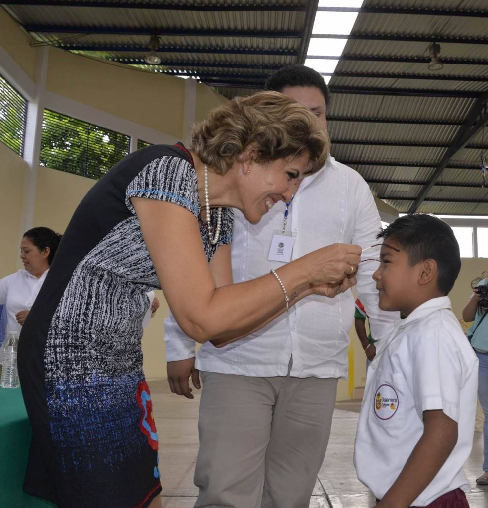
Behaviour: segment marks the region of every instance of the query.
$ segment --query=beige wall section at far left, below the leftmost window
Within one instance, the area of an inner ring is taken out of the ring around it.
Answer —
[[[20,215],[27,164],[0,143],[0,278],[18,270]]]

